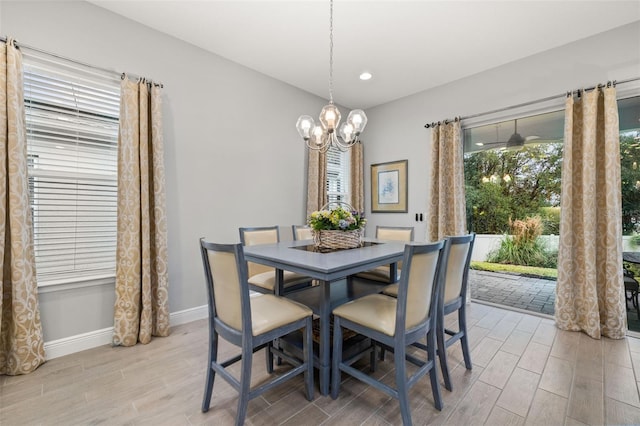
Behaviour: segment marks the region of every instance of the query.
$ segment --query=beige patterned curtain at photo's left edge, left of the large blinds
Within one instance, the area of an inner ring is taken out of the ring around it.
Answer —
[[[22,55],[9,39],[0,43],[0,374],[45,361],[31,220]]]

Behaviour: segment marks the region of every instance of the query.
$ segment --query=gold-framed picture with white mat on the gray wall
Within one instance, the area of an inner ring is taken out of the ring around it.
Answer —
[[[371,212],[407,212],[408,160],[371,165]]]

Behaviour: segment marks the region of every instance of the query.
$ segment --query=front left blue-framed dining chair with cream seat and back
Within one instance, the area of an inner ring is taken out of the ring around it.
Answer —
[[[304,374],[306,397],[313,400],[312,311],[304,305],[272,294],[249,296],[247,263],[242,245],[215,244],[200,239],[209,305],[209,359],[202,412],[209,411],[216,373],[238,391],[236,425],[242,425],[249,401],[275,386]],[[272,346],[274,339],[303,330],[303,359]],[[218,336],[241,348],[241,354],[218,361]],[[253,353],[266,348],[293,368],[251,389]],[[240,380],[227,367],[241,362]]]

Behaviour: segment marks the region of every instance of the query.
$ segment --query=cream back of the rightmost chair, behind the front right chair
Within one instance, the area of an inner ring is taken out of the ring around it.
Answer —
[[[460,303],[466,301],[469,263],[471,263],[475,237],[476,234],[471,233],[447,238],[451,248],[444,280],[443,300],[445,305],[453,303],[458,298],[460,298]]]

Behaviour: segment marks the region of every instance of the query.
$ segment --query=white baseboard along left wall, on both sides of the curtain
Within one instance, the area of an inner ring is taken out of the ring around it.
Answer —
[[[183,311],[172,312],[170,314],[170,324],[172,326],[186,324],[191,321],[207,318],[209,315],[207,305],[185,309]],[[54,359],[76,352],[85,351],[111,344],[113,337],[113,327],[94,330],[88,333],[76,334],[75,336],[64,337],[44,343],[46,358]]]

